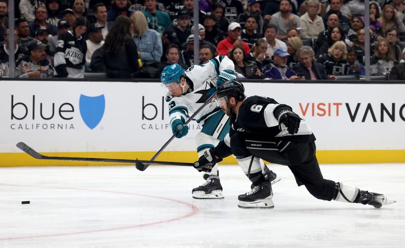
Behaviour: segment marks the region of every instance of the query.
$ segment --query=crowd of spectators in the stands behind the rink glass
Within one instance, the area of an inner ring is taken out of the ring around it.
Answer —
[[[228,56],[239,79],[320,80],[342,75],[405,79],[405,0],[370,2],[370,68],[365,68],[361,0],[19,0],[10,32],[0,0],[0,77],[159,78]],[[198,33],[194,33],[198,25]]]

